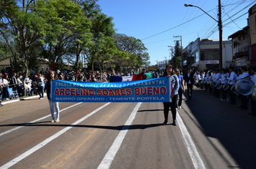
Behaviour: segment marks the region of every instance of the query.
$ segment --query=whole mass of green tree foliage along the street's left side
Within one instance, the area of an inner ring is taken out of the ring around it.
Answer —
[[[81,69],[83,55],[93,69],[140,67],[149,54],[140,39],[115,34],[113,18],[101,12],[98,0],[2,1],[0,57],[27,72],[48,59],[58,67],[70,59]]]

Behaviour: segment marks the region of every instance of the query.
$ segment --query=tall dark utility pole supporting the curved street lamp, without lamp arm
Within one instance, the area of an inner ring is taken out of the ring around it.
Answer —
[[[222,69],[222,20],[221,20],[221,0],[219,0],[219,69]]]

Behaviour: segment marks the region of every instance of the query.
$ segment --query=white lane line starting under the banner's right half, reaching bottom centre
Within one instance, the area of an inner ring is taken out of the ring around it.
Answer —
[[[136,107],[134,107],[132,114],[129,116],[127,122],[125,122],[124,127],[122,127],[122,130],[119,132],[119,135],[117,135],[116,139],[114,140],[114,143],[109,148],[109,151],[106,153],[104,159],[101,161],[98,169],[110,168],[110,165],[111,165],[112,161],[114,160],[114,157],[116,156],[116,153],[119,150],[119,148],[124,140],[124,137],[129,130],[129,125],[132,124],[132,121],[134,120],[141,104],[142,104],[142,102],[139,102],[136,105]]]

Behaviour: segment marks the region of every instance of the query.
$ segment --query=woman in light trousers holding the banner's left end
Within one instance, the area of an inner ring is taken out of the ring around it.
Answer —
[[[52,120],[51,122],[60,122],[60,109],[59,109],[59,102],[52,102],[52,98],[50,95],[50,87],[52,85],[52,80],[57,79],[56,78],[56,73],[55,71],[50,71],[49,73],[49,79],[47,80],[46,83],[46,91],[47,91],[47,98],[48,98],[48,102],[50,105],[50,114],[52,115]],[[56,120],[54,117],[54,107],[56,110]]]

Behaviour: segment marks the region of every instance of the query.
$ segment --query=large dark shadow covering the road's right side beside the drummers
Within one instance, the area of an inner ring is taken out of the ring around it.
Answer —
[[[186,92],[184,95],[187,97]],[[248,103],[248,110],[241,110],[238,107],[239,98],[237,98],[237,105],[230,105],[205,90],[196,88],[193,90],[192,99],[185,100],[185,102],[189,110],[184,110],[184,113],[191,118],[194,124],[198,124],[198,128],[206,137],[219,140],[239,165],[239,167],[227,166],[227,168],[255,168],[256,117],[248,115],[251,110],[250,103]],[[193,120],[191,113],[196,117],[196,121]],[[211,145],[224,160],[227,160],[214,143]]]

